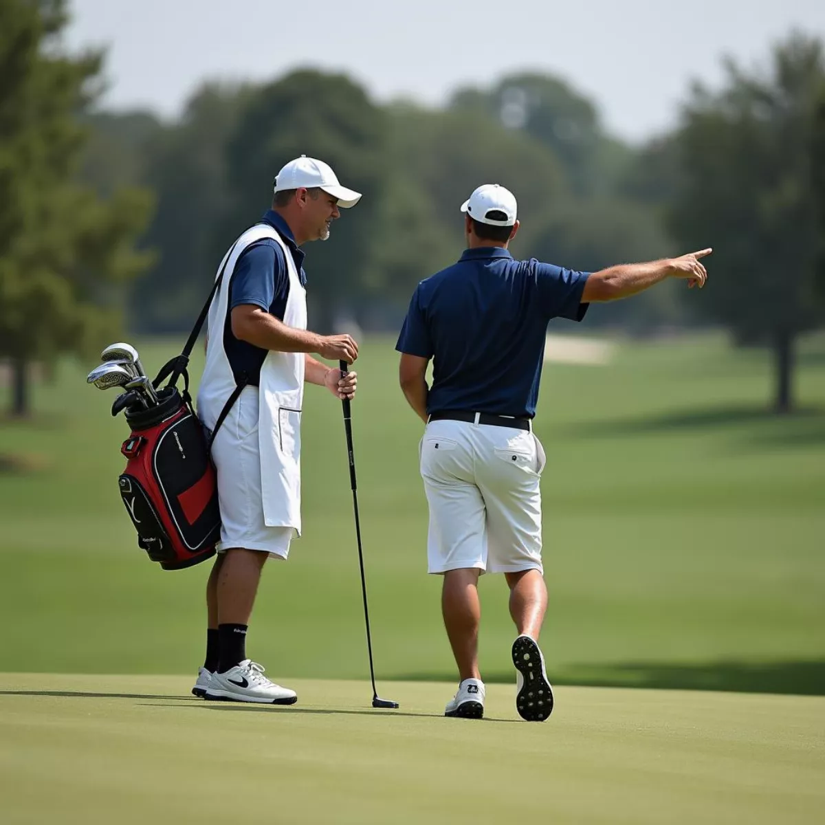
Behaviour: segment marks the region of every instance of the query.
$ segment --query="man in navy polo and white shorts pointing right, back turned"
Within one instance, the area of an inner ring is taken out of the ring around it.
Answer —
[[[594,273],[516,261],[516,198],[479,186],[461,206],[467,249],[422,281],[396,349],[410,406],[427,422],[420,446],[430,510],[429,572],[444,577],[441,607],[459,671],[447,716],[479,719],[479,575],[504,573],[518,637],[516,709],[544,721],[553,710],[539,634],[547,608],[541,560],[544,449],[533,434],[544,338],[552,318],[581,321],[587,305],[634,295],[667,278],[705,285],[700,258],[612,266]],[[432,386],[425,378],[433,361]]]

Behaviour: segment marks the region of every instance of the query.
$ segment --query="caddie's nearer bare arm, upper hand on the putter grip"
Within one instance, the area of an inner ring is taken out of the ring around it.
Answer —
[[[314,352],[330,361],[347,361],[347,364],[358,357],[358,345],[351,336],[318,335],[288,327],[266,309],[253,304],[241,304],[232,310],[232,334],[263,350]]]

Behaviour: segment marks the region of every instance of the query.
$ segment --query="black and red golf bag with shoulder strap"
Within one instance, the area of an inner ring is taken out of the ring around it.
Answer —
[[[120,497],[138,532],[139,547],[164,570],[209,559],[220,538],[218,487],[210,451],[246,381],[238,381],[207,437],[192,408],[186,368],[223,277],[222,269],[181,354],[167,361],[152,382],[158,404],[125,411],[131,434],[120,448],[127,460],[118,479]],[[184,386],[179,390],[181,376]]]

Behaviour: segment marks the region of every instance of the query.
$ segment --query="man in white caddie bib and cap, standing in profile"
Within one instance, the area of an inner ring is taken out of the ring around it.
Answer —
[[[295,691],[276,685],[247,658],[246,635],[266,559],[286,559],[301,530],[300,422],[304,383],[352,398],[356,374],[349,335],[307,331],[301,247],[326,240],[338,209],[361,195],[341,186],[323,161],[302,155],[278,172],[260,223],[233,244],[209,313],[198,413],[212,430],[236,387],[243,387],[212,446],[221,534],[206,586],[206,658],[192,692],[207,699],[289,705]],[[310,353],[335,361],[329,367]]]

